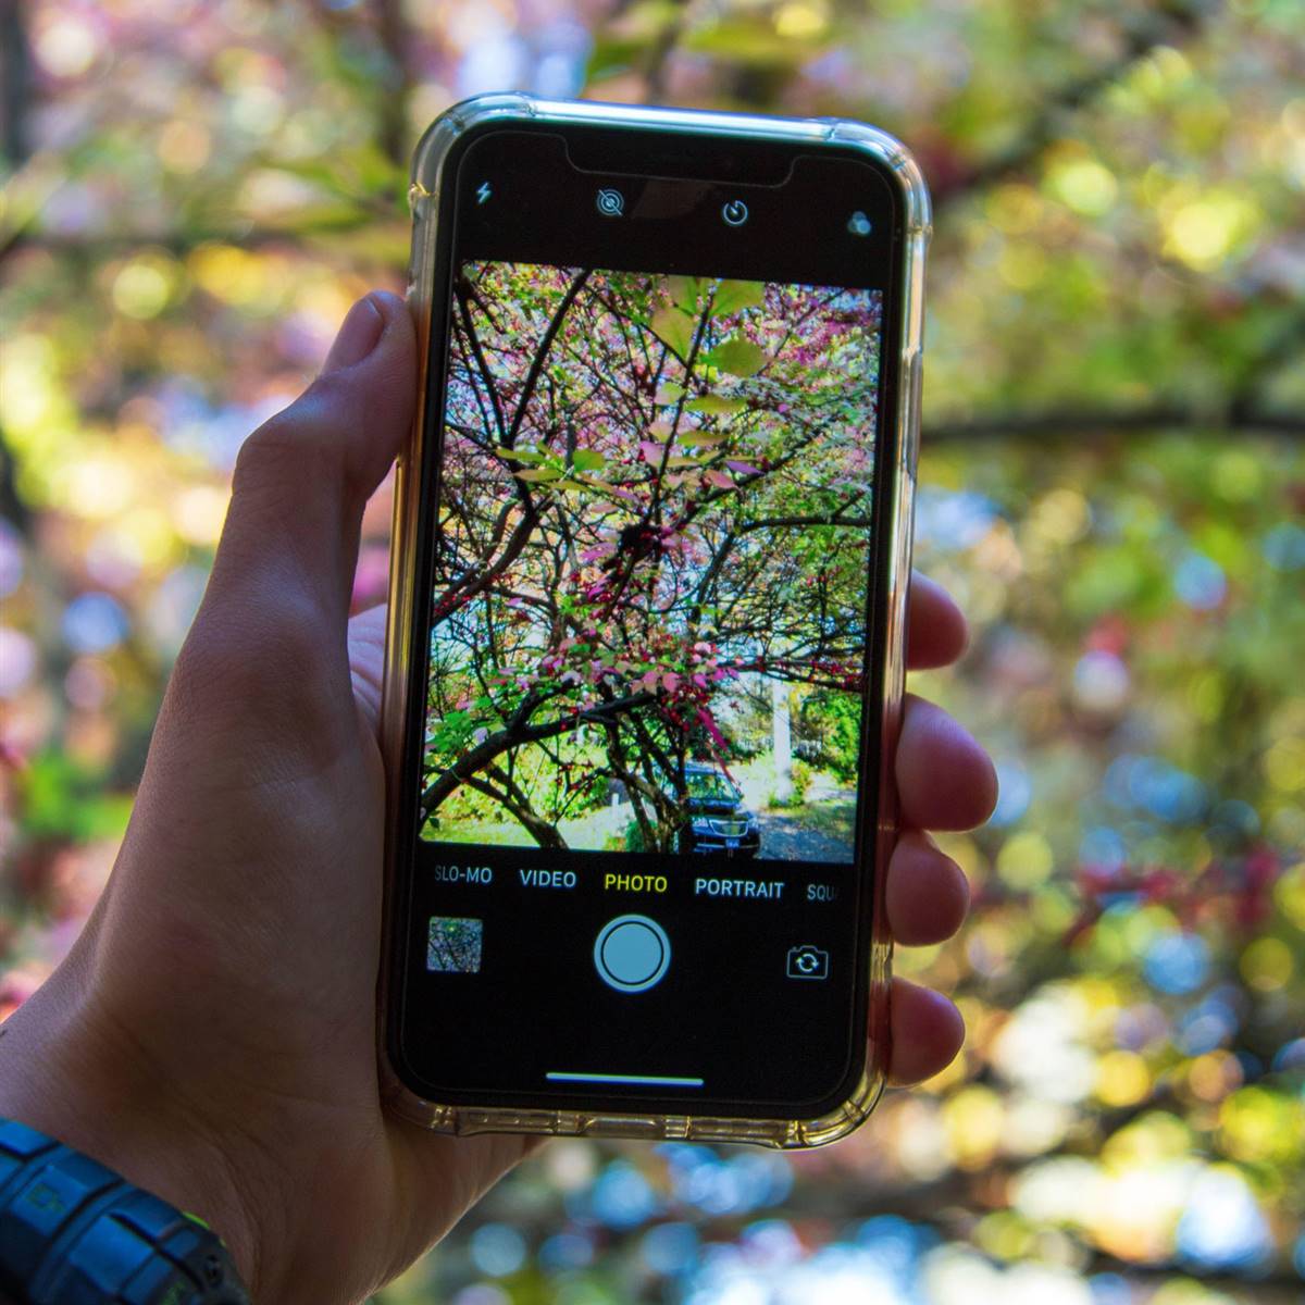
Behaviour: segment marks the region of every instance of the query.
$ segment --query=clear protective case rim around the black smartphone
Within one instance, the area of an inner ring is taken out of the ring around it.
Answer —
[[[920,354],[924,312],[924,256],[930,232],[929,192],[910,151],[887,132],[864,123],[839,119],[783,119],[752,115],[705,112],[697,110],[650,108],[629,104],[600,104],[538,99],[526,94],[492,94],[455,104],[437,117],[423,134],[412,157],[411,187],[412,253],[408,266],[408,303],[419,333],[422,377],[412,438],[399,458],[394,489],[394,530],[392,543],[389,625],[386,632],[382,745],[390,792],[398,791],[401,758],[405,753],[405,706],[408,694],[408,622],[418,577],[414,574],[415,534],[419,518],[419,476],[423,432],[425,428],[425,359],[429,347],[431,304],[433,295],[436,215],[445,183],[445,163],[450,147],[467,130],[487,123],[527,121],[559,125],[600,125],[632,132],[662,129],[705,133],[714,137],[769,138],[806,144],[814,149],[839,146],[861,150],[887,166],[900,192],[904,213],[904,275],[900,313],[900,376],[897,411],[885,411],[883,420],[897,423],[897,495],[887,522],[893,540],[889,559],[886,602],[886,663],[882,703],[882,756],[897,746],[906,679],[907,590],[911,573],[911,521],[915,496],[916,452],[920,429]],[[886,865],[897,837],[897,793],[891,767],[878,795],[876,865]],[[385,950],[377,1022],[381,1074],[388,1107],[403,1118],[440,1133],[532,1133],[565,1137],[629,1137],[650,1141],[754,1142],[775,1147],[812,1147],[834,1142],[851,1133],[874,1109],[887,1077],[889,1065],[889,970],[891,941],[883,924],[883,876],[874,876],[874,933],[867,981],[870,989],[867,1019],[868,1054],[860,1082],[837,1109],[820,1118],[758,1120],[702,1114],[651,1114],[542,1109],[523,1107],[468,1107],[428,1101],[414,1094],[399,1078],[386,1048],[386,1004],[390,988],[390,949],[395,936],[394,861],[399,827],[398,804],[392,801],[386,830]]]

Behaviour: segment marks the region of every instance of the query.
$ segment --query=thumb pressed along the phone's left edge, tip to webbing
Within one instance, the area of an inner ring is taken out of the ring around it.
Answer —
[[[414,334],[398,296],[360,299],[317,380],[244,442],[205,607],[244,624],[304,604],[343,637],[363,509],[412,419]]]

